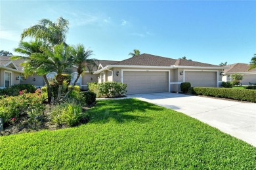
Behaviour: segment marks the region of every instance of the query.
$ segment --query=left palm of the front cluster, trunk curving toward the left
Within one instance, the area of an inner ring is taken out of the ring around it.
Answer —
[[[51,103],[51,86],[46,76],[48,72],[47,70],[40,69],[40,65],[43,64],[41,61],[34,59],[38,54],[43,53],[41,51],[43,46],[47,46],[47,44],[44,44],[42,41],[20,41],[18,48],[14,48],[14,51],[22,54],[22,56],[12,56],[11,59],[24,59],[24,62],[21,64],[24,67],[24,76],[43,76],[43,80],[45,80],[45,84],[47,86],[48,101]]]

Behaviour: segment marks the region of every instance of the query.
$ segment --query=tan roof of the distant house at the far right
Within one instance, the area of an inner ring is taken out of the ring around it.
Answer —
[[[248,70],[250,65],[247,63],[234,63],[232,65],[228,65],[228,69],[224,69],[224,73],[243,73],[243,72],[251,72],[255,73],[256,69]]]

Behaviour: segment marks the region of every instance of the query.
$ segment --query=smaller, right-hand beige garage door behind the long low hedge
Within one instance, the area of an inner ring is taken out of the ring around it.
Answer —
[[[185,82],[192,87],[217,87],[217,72],[186,71]]]

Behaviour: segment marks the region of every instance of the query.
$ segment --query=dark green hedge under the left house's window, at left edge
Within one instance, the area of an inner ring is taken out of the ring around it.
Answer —
[[[22,90],[26,90],[27,93],[34,93],[35,86],[31,84],[15,84],[9,88],[0,89],[0,95],[17,96]]]

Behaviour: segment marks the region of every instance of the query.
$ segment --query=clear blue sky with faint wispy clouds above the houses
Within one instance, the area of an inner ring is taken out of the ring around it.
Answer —
[[[93,58],[141,53],[204,63],[249,63],[256,53],[256,1],[0,1],[0,50],[18,46],[42,18],[70,21],[68,44]],[[29,41],[29,39],[28,39]]]

